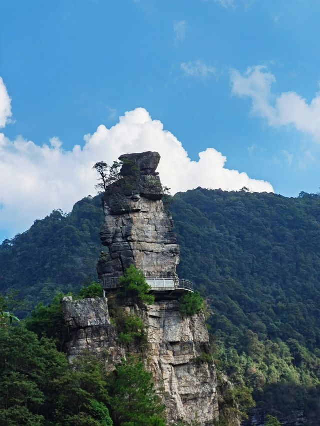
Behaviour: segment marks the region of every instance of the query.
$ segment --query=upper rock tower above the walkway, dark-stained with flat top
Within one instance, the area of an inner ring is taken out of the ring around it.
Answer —
[[[177,280],[179,247],[161,200],[162,185],[155,172],[159,159],[151,151],[119,157],[122,177],[107,187],[102,199],[100,237],[108,253],[99,258],[99,278],[119,277],[134,264],[145,277]]]

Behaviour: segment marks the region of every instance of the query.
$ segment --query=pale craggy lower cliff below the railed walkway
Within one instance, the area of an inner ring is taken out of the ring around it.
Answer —
[[[212,362],[203,362],[208,352],[208,333],[203,314],[182,318],[175,300],[153,305],[124,305],[127,312],[143,319],[147,345],[127,348],[117,343],[110,324],[106,298],[62,301],[63,317],[70,327],[69,357],[87,350],[108,355],[108,368],[130,353],[139,353],[152,373],[156,389],[166,406],[169,423],[183,421],[211,425],[218,418],[216,374]]]

